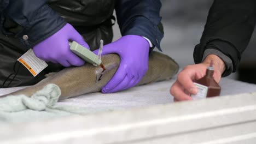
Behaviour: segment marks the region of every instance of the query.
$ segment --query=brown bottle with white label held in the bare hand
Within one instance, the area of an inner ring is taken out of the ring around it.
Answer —
[[[197,87],[197,94],[191,95],[193,99],[219,96],[221,88],[219,84],[213,79],[213,73],[214,69],[212,67],[211,61],[210,67],[208,67],[206,70],[206,75],[194,82]]]

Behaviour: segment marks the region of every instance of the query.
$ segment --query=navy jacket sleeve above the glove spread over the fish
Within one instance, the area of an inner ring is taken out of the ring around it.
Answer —
[[[164,36],[159,0],[117,0],[115,11],[122,35],[141,35],[160,48]]]

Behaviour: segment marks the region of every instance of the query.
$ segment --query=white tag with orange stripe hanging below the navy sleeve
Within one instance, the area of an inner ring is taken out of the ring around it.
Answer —
[[[34,51],[32,49],[24,53],[18,61],[23,64],[33,76],[36,76],[48,66],[45,61],[34,55]]]

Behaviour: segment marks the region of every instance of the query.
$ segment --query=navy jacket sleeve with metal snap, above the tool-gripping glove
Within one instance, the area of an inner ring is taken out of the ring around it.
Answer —
[[[4,35],[18,38],[27,49],[59,31],[66,22],[45,0],[1,0],[0,28]],[[2,9],[2,10],[1,10]]]

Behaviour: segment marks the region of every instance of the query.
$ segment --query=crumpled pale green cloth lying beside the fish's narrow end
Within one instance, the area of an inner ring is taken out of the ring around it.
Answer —
[[[95,112],[85,107],[57,105],[59,86],[46,85],[32,97],[9,95],[0,98],[0,123],[18,123]]]

